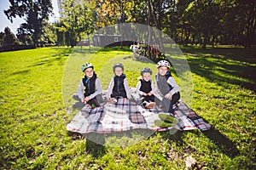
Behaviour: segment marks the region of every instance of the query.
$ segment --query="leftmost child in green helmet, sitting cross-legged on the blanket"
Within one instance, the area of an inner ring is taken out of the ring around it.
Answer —
[[[85,63],[81,69],[84,72],[84,78],[80,81],[78,94],[73,94],[73,99],[92,107],[99,107],[102,102],[102,84],[93,70],[94,66],[91,63]]]

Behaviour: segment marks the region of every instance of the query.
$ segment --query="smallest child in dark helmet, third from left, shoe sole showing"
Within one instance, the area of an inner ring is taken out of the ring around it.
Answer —
[[[154,83],[151,80],[152,71],[148,67],[141,71],[140,80],[137,82],[136,90],[140,97],[143,97],[143,106],[146,109],[154,107]]]

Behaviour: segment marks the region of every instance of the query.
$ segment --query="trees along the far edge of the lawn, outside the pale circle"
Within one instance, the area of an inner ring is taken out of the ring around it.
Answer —
[[[62,0],[62,17],[49,24],[51,0],[9,0],[4,11],[9,20],[23,17],[16,37],[8,29],[0,33],[1,47],[11,43],[73,47],[91,32],[113,24],[132,22],[154,26],[183,45],[202,48],[218,44],[256,44],[254,0]],[[15,41],[7,41],[7,37]],[[155,47],[162,46],[161,41]]]

